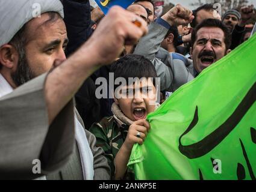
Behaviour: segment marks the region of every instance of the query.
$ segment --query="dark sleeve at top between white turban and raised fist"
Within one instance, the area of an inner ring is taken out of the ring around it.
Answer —
[[[75,52],[92,35],[89,0],[63,0],[64,22],[67,28],[67,56]]]

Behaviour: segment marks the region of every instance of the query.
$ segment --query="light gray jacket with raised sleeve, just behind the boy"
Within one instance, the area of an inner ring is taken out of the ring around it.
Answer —
[[[148,34],[140,38],[133,54],[145,56],[145,58],[152,62],[157,71],[157,77],[160,77],[161,91],[173,92],[181,85],[193,80],[194,77],[189,71],[189,67],[193,68],[193,63],[191,62],[189,64],[182,62],[180,59],[175,59],[167,50],[160,47],[168,29],[158,23],[152,22],[148,26],[148,31]],[[166,63],[157,57],[161,59],[166,57]]]

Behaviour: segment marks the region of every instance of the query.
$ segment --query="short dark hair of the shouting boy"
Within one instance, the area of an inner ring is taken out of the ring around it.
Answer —
[[[157,77],[157,71],[155,71],[154,65],[141,55],[129,54],[118,59],[111,65],[110,72],[114,73],[114,80],[118,77],[125,78],[128,83],[128,78],[138,77],[139,79],[145,77],[146,79],[152,77],[155,86],[155,77]],[[114,85],[114,90],[119,85]]]

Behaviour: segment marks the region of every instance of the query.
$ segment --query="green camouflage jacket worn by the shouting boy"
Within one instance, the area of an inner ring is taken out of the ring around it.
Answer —
[[[111,176],[114,178],[115,164],[114,158],[125,141],[129,125],[120,124],[120,121],[110,116],[103,118],[100,122],[90,127],[90,132],[96,137],[96,146],[100,146],[105,151],[105,157],[111,168]],[[134,173],[128,169],[123,179],[134,179]]]

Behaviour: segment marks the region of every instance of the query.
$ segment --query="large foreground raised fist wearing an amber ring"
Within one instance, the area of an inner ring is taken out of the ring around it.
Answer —
[[[135,25],[134,21],[140,25]],[[84,54],[92,55],[99,65],[110,64],[120,55],[125,44],[136,44],[147,32],[145,20],[119,6],[114,6],[81,48],[84,47]],[[94,51],[86,53],[87,47]]]

